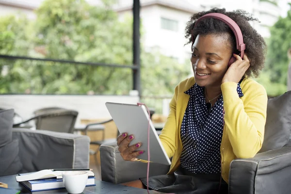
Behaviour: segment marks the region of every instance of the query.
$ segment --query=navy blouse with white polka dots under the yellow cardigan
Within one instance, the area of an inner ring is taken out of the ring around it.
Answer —
[[[237,87],[239,97],[243,96],[241,81]],[[190,95],[190,99],[181,126],[181,166],[195,174],[220,173],[223,96],[221,95],[208,111],[204,87],[195,83],[185,94]]]

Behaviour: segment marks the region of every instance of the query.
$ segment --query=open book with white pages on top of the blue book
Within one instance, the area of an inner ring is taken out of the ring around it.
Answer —
[[[16,176],[17,182],[27,181],[27,180],[36,180],[36,179],[43,179],[43,178],[62,178],[62,173],[65,171],[51,171],[51,170],[41,170],[35,173],[27,173],[25,175]],[[94,177],[94,173],[92,171],[88,172],[88,177]]]

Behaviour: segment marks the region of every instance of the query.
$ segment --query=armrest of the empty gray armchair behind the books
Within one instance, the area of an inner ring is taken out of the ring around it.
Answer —
[[[21,173],[50,168],[88,168],[90,138],[49,130],[12,129],[19,142]]]

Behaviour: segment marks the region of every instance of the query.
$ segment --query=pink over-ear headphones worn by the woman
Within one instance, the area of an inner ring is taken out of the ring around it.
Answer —
[[[224,14],[220,14],[220,13],[210,13],[210,14],[206,14],[204,16],[201,16],[199,19],[197,19],[195,26],[199,23],[199,21],[201,21],[202,19],[205,18],[215,18],[215,19],[219,19],[221,21],[223,21],[224,23],[226,23],[227,26],[229,26],[229,28],[232,30],[232,32],[235,35],[235,39],[236,39],[236,48],[240,51],[240,56],[241,58],[243,57],[244,54],[244,50],[245,50],[245,44],[243,43],[243,38],[242,38],[242,31],[240,29],[240,27],[237,25],[237,23],[235,23],[235,21],[233,21],[230,17],[224,15]],[[194,37],[192,36],[192,46],[191,49],[193,51],[193,44],[194,44]],[[234,56],[232,56],[228,62],[228,66],[230,66],[231,64],[233,64],[236,61],[236,58]]]

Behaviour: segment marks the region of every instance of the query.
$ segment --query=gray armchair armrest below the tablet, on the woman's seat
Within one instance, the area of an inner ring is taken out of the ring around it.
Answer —
[[[100,146],[101,179],[115,184],[146,177],[147,163],[124,161],[116,142]],[[151,162],[149,176],[165,175],[170,166]]]

